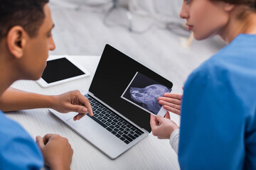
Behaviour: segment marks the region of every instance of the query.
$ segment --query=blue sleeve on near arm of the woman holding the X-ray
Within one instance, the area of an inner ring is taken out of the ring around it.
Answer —
[[[178,160],[181,169],[242,169],[245,118],[224,71],[193,72],[184,86]]]

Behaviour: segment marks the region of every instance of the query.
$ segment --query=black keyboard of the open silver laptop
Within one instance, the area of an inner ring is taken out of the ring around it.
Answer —
[[[103,128],[112,132],[119,140],[129,144],[144,133],[142,130],[139,130],[134,125],[127,122],[127,120],[121,118],[117,113],[110,111],[110,109],[96,101],[96,99],[89,95],[85,95],[85,97],[90,101],[93,111],[93,116],[89,114],[86,115],[92,118],[92,120],[95,120],[95,122],[100,124]]]

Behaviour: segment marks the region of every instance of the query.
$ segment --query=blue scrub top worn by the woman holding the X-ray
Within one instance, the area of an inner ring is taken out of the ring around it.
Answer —
[[[238,35],[186,81],[181,169],[256,169],[256,35]]]

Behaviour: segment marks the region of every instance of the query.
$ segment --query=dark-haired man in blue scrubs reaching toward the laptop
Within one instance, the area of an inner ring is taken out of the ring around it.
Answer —
[[[39,79],[48,51],[55,49],[53,20],[48,0],[0,0],[0,108],[16,111],[54,108],[78,112],[74,120],[92,108],[79,91],[58,96],[31,94],[10,88],[18,79]],[[0,169],[70,169],[73,149],[60,135],[37,136],[36,142],[21,125],[0,111]]]

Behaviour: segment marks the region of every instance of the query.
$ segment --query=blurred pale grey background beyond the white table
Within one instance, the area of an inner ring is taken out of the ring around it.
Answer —
[[[50,0],[56,44],[50,55],[101,55],[108,43],[172,81],[174,93],[182,93],[191,71],[225,44],[215,37],[186,45],[191,33],[178,17],[181,3]]]

